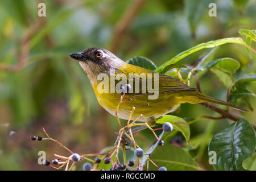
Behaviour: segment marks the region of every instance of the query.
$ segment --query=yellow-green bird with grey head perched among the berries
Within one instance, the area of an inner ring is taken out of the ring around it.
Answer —
[[[134,120],[142,114],[142,117],[140,117],[138,121],[145,121],[148,125],[154,126],[155,118],[171,113],[180,104],[185,102],[190,104],[213,102],[215,104],[233,107],[241,111],[247,111],[239,106],[200,93],[196,88],[192,88],[176,78],[158,73],[155,74],[155,72],[148,69],[128,64],[115,56],[112,52],[103,48],[86,48],[84,51],[71,53],[69,56],[79,61],[80,66],[93,86],[98,103],[110,114],[115,115],[115,109],[121,98],[120,92],[113,93],[110,91],[111,86],[113,86],[113,84],[111,85],[110,78],[117,76],[118,79],[122,80],[120,75],[126,76],[127,89],[123,100],[130,101],[123,102],[119,105],[118,117],[122,119],[129,119],[131,109],[137,107],[137,109],[134,110],[131,120]],[[102,90],[99,90],[101,89],[99,84],[102,85],[102,79],[99,78],[99,75],[102,74],[109,76],[108,85],[104,85],[102,88],[109,92],[102,92]],[[136,75],[146,75],[147,81],[151,81],[152,89],[147,89],[146,92],[143,90],[141,77],[139,78],[141,87],[139,88],[139,92],[135,92],[135,78],[129,80],[130,75],[135,75],[135,77]],[[156,76],[158,77],[157,80],[155,79]],[[119,82],[118,79],[114,80],[114,86],[117,86]],[[130,82],[131,84],[128,84],[129,81],[132,81]],[[156,81],[158,81],[158,88],[153,88]],[[134,85],[131,90],[129,90],[130,85]],[[123,89],[122,86],[119,86],[119,88]],[[129,91],[132,91],[133,93],[130,93]],[[152,96],[153,94],[156,94],[158,97],[156,99],[149,99],[148,96]]]

